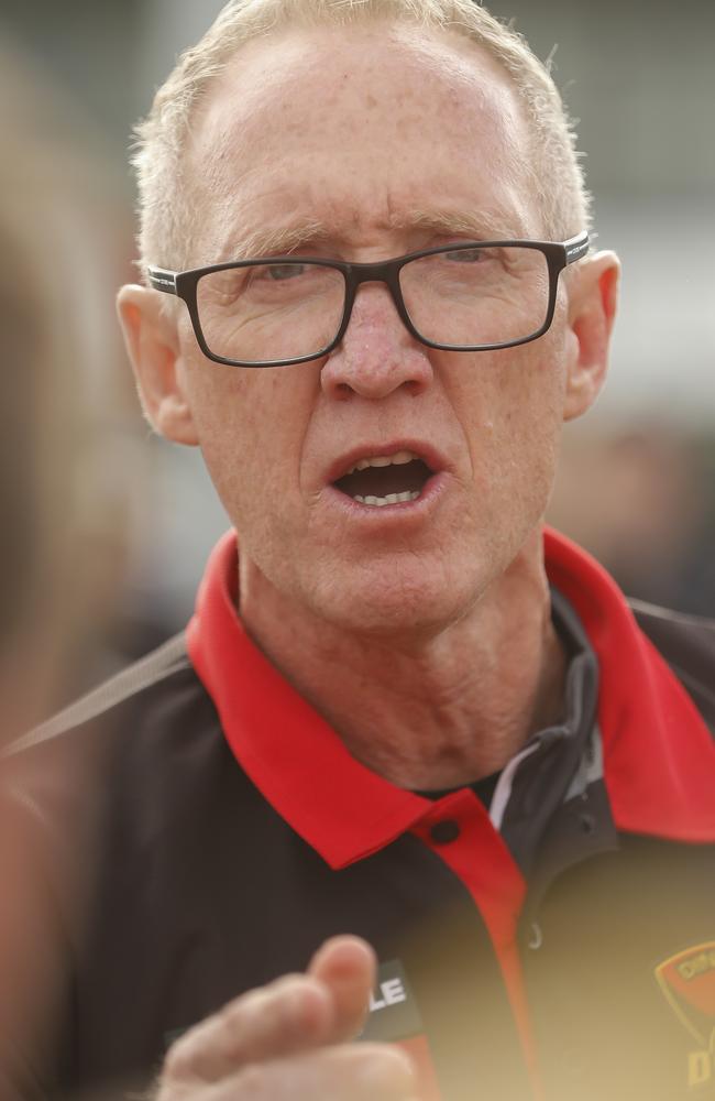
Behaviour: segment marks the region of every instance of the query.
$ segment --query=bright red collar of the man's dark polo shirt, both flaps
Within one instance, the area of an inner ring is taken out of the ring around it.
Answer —
[[[600,659],[598,713],[616,824],[683,840],[715,839],[715,750],[690,697],[605,570],[556,532],[547,530],[544,548],[549,578],[579,612]],[[352,757],[263,656],[235,610],[237,562],[235,533],[229,532],[199,588],[189,656],[246,774],[331,866],[343,868],[382,849],[435,805]]]

